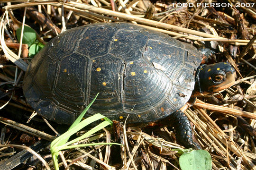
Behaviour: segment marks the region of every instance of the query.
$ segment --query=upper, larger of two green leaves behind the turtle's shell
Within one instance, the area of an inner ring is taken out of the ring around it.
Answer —
[[[21,27],[16,30],[18,42],[20,42]],[[26,43],[29,47],[36,41],[37,33],[34,29],[24,26],[22,43]]]

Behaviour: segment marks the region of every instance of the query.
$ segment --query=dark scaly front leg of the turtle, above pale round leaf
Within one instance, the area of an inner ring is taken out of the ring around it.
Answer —
[[[201,146],[192,139],[190,121],[182,110],[177,110],[171,115],[172,126],[175,129],[176,140],[186,148],[201,149]]]

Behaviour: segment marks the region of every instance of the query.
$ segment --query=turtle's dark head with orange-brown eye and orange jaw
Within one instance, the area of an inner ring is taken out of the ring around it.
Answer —
[[[210,96],[234,84],[236,71],[228,62],[201,65],[197,68],[196,84],[192,97]]]

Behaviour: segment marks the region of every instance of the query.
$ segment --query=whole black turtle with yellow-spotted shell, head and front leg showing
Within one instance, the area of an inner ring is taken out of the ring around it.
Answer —
[[[228,62],[201,65],[201,59],[191,44],[142,26],[89,24],[59,34],[37,53],[23,92],[39,115],[59,124],[72,124],[99,93],[85,117],[101,113],[139,127],[165,122],[178,143],[200,149],[182,108],[236,77]]]

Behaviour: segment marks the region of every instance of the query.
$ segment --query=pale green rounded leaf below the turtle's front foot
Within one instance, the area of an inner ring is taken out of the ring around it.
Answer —
[[[179,162],[182,170],[211,170],[210,153],[205,150],[183,153]]]

